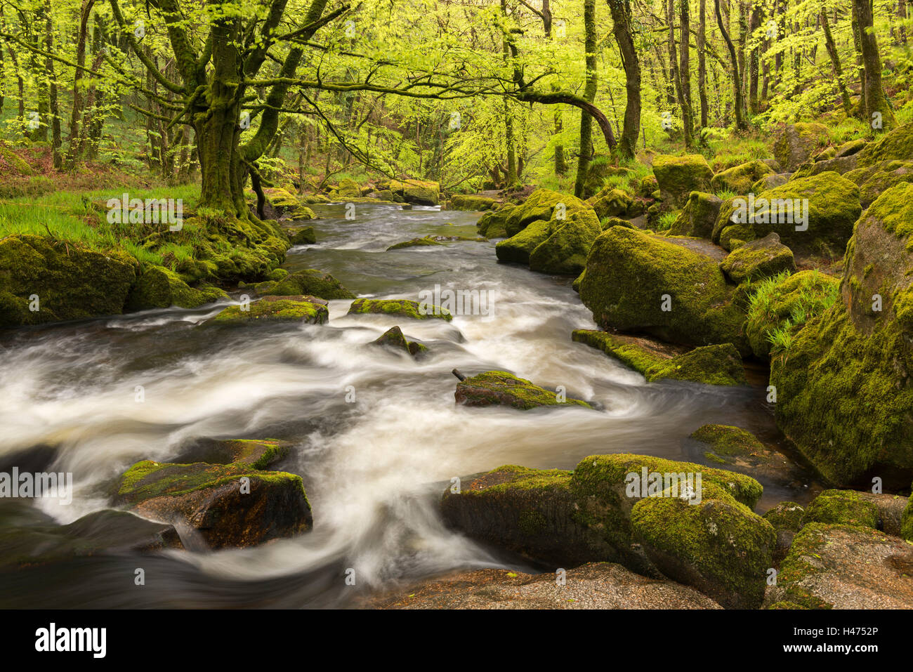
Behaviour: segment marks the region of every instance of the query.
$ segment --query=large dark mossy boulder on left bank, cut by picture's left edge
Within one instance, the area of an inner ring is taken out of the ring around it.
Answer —
[[[119,315],[139,267],[122,251],[6,236],[0,239],[0,328]]]

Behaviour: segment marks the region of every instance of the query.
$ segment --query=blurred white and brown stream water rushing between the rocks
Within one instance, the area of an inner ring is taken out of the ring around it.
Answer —
[[[334,300],[320,326],[199,327],[224,307],[215,305],[9,332],[0,340],[0,458],[51,446],[50,468],[75,478],[70,506],[37,500],[58,522],[107,508],[110,484],[138,460],[173,460],[200,437],[275,437],[294,444],[277,468],[304,479],[314,528],[251,549],[16,572],[0,577],[5,605],[344,606],[359,589],[454,569],[529,569],[446,530],[435,502],[450,478],[503,464],[572,468],[600,453],[699,461],[684,439],[709,422],[777,440],[760,376],[738,389],[647,384],[572,342],[572,330],[595,325],[568,278],[498,264],[490,242],[385,251],[415,236],[475,236],[476,213],[358,205],[348,220],[342,205],[314,209],[319,243],[289,250],[289,271],[320,268],[375,298],[419,299],[436,285],[488,290],[488,315],[347,316],[350,301]],[[429,356],[365,347],[394,324]],[[563,385],[603,410],[458,407],[455,367]],[[759,509],[807,494],[766,487]],[[137,567],[145,586],[133,584]],[[349,568],[355,590],[344,583]]]

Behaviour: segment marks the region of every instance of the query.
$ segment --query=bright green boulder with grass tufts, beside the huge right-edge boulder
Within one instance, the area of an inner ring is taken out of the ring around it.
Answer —
[[[817,270],[783,273],[757,284],[745,321],[751,352],[770,359],[774,335],[783,330],[792,335],[805,320],[829,309],[837,298],[839,285],[838,278]]]

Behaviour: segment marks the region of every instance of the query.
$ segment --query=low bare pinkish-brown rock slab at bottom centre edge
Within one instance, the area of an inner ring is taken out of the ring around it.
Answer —
[[[621,565],[589,563],[552,572],[459,572],[372,598],[375,609],[719,609],[705,595],[666,580],[648,579]]]

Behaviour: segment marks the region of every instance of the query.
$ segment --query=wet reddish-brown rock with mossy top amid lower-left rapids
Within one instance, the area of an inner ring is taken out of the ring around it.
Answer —
[[[114,502],[194,530],[213,549],[253,546],[311,528],[301,477],[244,464],[138,462],[121,477]]]

